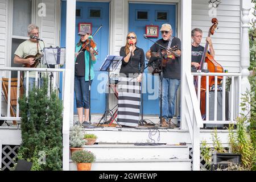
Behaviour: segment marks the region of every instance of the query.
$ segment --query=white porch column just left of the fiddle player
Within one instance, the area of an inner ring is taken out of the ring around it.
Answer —
[[[74,105],[74,72],[75,72],[75,24],[76,0],[67,0],[66,20],[66,69],[64,85],[64,116],[63,118],[63,171],[69,170],[69,125],[73,123]],[[68,78],[67,78],[68,77]],[[65,97],[69,97],[65,99]],[[69,101],[69,103],[67,103]],[[67,112],[67,113],[65,113]]]

